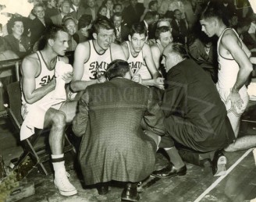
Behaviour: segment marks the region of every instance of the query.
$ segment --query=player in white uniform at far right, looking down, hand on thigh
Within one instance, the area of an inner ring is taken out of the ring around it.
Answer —
[[[219,37],[218,58],[219,58],[219,80],[216,87],[222,101],[226,105],[231,126],[238,136],[240,127],[240,116],[247,107],[249,97],[247,87],[244,85],[252,71],[252,64],[249,60],[251,52],[244,45],[238,34],[223,23],[222,19],[226,13],[216,5],[208,5],[201,15],[201,27],[208,37],[214,35]],[[254,147],[256,138],[244,136],[230,144],[226,151],[236,151]]]

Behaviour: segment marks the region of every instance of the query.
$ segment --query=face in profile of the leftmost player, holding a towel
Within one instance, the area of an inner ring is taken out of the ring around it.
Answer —
[[[59,31],[52,45],[52,50],[55,51],[57,55],[64,56],[66,49],[69,48],[69,34],[64,31]]]

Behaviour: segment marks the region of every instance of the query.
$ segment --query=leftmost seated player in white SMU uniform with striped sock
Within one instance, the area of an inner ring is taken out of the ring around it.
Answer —
[[[67,64],[68,58],[64,57],[66,48],[68,48],[68,37],[69,34],[62,27],[49,27],[44,35],[44,39],[47,41],[44,49],[28,55],[23,59],[21,66],[23,101],[21,113],[24,121],[20,139],[24,140],[33,135],[34,128],[49,127],[51,129],[49,144],[55,171],[54,184],[63,196],[77,193],[76,188],[69,183],[63,154],[66,122],[73,120],[76,113],[76,102],[65,102],[64,98],[54,98],[55,93],[59,93],[55,89],[56,83],[61,81],[64,84],[72,80],[72,70],[55,78],[57,66],[62,70],[67,66],[70,67]],[[64,85],[62,89],[65,90]]]

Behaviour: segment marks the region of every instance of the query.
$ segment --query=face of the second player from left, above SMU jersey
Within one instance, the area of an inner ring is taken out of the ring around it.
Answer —
[[[97,44],[102,50],[107,50],[112,43],[114,37],[114,30],[100,29],[97,34]]]

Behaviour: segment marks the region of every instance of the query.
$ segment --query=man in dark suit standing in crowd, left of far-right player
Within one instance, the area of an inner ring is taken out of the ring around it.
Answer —
[[[172,37],[174,42],[181,44],[187,43],[187,25],[184,19],[181,19],[181,12],[179,9],[173,11],[174,19],[172,19]]]

